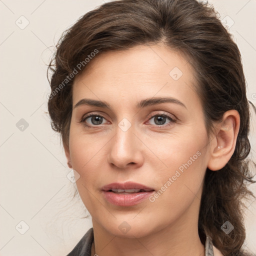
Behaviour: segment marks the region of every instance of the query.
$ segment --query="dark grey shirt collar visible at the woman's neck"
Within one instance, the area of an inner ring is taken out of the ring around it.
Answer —
[[[90,256],[92,242],[93,228],[91,227],[67,256]],[[205,256],[214,256],[212,242],[208,236],[205,241]]]

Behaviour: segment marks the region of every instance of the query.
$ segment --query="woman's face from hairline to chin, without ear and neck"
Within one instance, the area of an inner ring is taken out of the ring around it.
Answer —
[[[93,226],[141,237],[197,223],[209,141],[189,63],[153,45],[87,65],[73,84],[65,151]]]

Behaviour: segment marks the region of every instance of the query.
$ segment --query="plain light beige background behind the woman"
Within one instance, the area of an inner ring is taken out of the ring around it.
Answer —
[[[46,114],[46,64],[62,31],[103,2],[0,0],[1,256],[66,255],[91,227],[90,217],[81,218],[88,214],[81,202],[72,199],[74,184],[66,177],[64,152]],[[247,97],[256,104],[256,0],[209,2],[231,25],[242,54]],[[250,157],[255,159],[255,114],[253,118]],[[256,201],[247,205],[245,245],[256,252]]]

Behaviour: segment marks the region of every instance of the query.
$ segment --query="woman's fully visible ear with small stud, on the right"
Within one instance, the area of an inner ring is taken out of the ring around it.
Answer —
[[[240,126],[239,113],[232,109],[223,114],[222,121],[215,127],[216,135],[211,140],[210,158],[207,167],[219,170],[231,158]]]

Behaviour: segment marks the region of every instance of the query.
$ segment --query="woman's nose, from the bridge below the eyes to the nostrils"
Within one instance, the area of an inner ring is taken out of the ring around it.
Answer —
[[[134,133],[133,125],[123,131],[119,126],[109,143],[108,162],[112,166],[124,169],[137,168],[143,163],[142,142]]]

